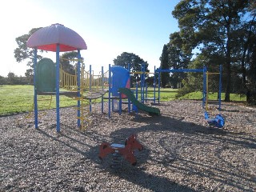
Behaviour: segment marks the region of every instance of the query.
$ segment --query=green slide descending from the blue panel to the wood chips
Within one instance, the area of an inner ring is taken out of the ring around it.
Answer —
[[[130,99],[130,102],[137,106],[138,109],[144,110],[148,112],[150,115],[160,115],[160,110],[156,107],[146,106],[142,102],[138,102],[137,98],[135,98],[134,93],[128,88],[119,88],[118,91],[121,94],[125,94],[127,98]]]

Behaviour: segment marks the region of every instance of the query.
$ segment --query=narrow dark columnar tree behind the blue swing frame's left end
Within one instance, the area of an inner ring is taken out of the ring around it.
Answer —
[[[162,55],[159,58],[159,60],[161,61],[160,68],[162,70],[169,70],[168,47],[166,46],[166,44],[162,48]],[[161,73],[160,77],[161,77],[162,87],[166,87],[166,85],[168,85],[170,81],[170,73]]]

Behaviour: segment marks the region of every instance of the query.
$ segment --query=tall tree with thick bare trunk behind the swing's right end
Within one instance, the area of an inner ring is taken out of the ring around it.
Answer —
[[[194,48],[224,53],[225,100],[230,101],[231,56],[234,31],[245,17],[250,1],[231,0],[183,0],[175,6],[172,14],[178,19],[182,49],[192,53]]]

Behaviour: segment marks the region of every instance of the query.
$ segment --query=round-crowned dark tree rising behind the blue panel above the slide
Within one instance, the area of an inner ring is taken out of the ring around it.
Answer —
[[[126,69],[128,69],[129,64],[130,64],[131,72],[141,71],[142,64],[145,64],[145,71],[149,72],[149,70],[148,70],[149,64],[147,62],[144,62],[144,60],[136,54],[123,52],[121,55],[118,55],[117,58],[114,58],[115,66],[123,66]],[[131,74],[130,75],[131,76],[131,78],[130,78],[131,85],[133,85],[133,83],[136,80],[140,79],[140,75],[141,74]],[[146,74],[145,76],[147,78],[148,74]]]

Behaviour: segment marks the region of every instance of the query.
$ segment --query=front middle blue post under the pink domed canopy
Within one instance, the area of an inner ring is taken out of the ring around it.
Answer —
[[[60,120],[59,120],[59,44],[56,47],[56,130],[59,133],[61,131]]]

